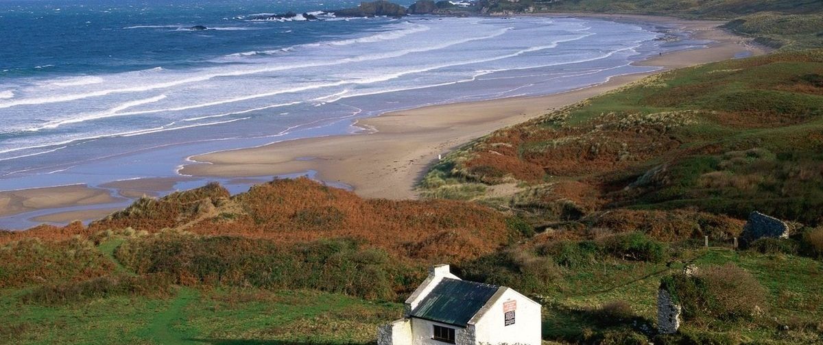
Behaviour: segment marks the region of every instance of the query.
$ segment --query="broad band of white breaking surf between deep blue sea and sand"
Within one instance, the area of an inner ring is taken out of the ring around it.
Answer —
[[[547,80],[560,76],[571,78],[578,75],[585,78],[585,75],[615,68],[616,63],[625,67],[624,61],[630,61],[628,57],[636,53],[632,51],[636,44],[631,44],[629,38],[604,30],[607,25],[596,21],[557,19],[559,24],[551,25],[537,18],[518,21],[495,18],[423,21],[412,18],[410,21],[412,22],[385,24],[381,26],[382,30],[375,30],[361,37],[329,38],[315,44],[235,53],[203,63],[203,67],[197,69],[156,67],[122,74],[64,77],[2,85],[0,90],[14,92],[7,94],[6,91],[0,91],[0,115],[32,114],[22,117],[26,121],[12,123],[11,126],[4,124],[3,127],[33,127],[37,131],[60,129],[41,131],[36,136],[26,134],[30,137],[19,138],[14,137],[12,132],[13,140],[0,141],[0,154],[9,156],[12,155],[9,152],[20,151],[13,155],[29,157],[55,148],[63,150],[64,146],[72,151],[81,150],[79,143],[101,138],[145,136],[206,126],[227,126],[226,133],[231,133],[231,136],[244,136],[240,134],[244,131],[239,129],[243,126],[257,126],[258,123],[282,128],[278,126],[305,120],[322,122],[332,114],[339,115],[342,112],[346,116],[354,116],[361,111],[376,111],[364,102],[371,102],[371,98],[346,102],[357,106],[353,108],[356,110],[351,111],[344,108],[346,103],[339,102],[342,99],[467,83],[502,71],[511,72],[481,79],[496,79],[498,76],[500,79],[509,78],[500,81],[500,85],[505,87],[483,91],[487,92],[483,97],[528,94],[529,91],[535,92],[545,87],[542,85],[554,83],[547,83]],[[521,22],[526,25],[521,25]],[[168,25],[162,28],[177,30],[181,26]],[[277,24],[253,26],[282,27]],[[235,27],[224,28],[232,30],[230,28]],[[295,32],[298,30],[295,29]],[[593,39],[594,34],[603,36]],[[636,33],[630,31],[628,34]],[[574,43],[587,38],[591,41]],[[620,55],[604,62],[595,62],[616,54]],[[249,58],[253,55],[256,57]],[[577,63],[583,64],[574,66]],[[568,67],[551,68],[564,65]],[[533,73],[516,72],[540,67],[546,69],[538,69]],[[579,73],[575,74],[575,71]],[[531,85],[533,81],[524,81],[522,84],[514,81],[523,75],[537,80],[540,73],[545,73],[546,77],[536,85]],[[492,82],[484,82],[492,85]],[[472,94],[477,90],[473,86],[443,90],[455,94],[444,94],[444,99],[434,102],[479,97],[478,94]],[[436,90],[426,90],[423,93],[430,92]],[[374,100],[379,102],[379,109],[410,106],[407,101],[398,103],[398,99],[393,97],[381,96]],[[300,103],[307,104],[290,108]],[[391,105],[394,103],[399,105]],[[310,105],[317,105],[319,108],[315,110]],[[16,106],[26,107],[6,110]],[[272,108],[281,110],[265,112]],[[250,115],[253,112],[272,116],[271,119],[266,117],[263,120],[262,117]],[[277,113],[291,115],[277,117]],[[139,122],[101,121],[109,117],[142,114],[156,115],[140,117]],[[227,125],[242,121],[248,121],[249,125]],[[82,122],[88,123],[67,126]],[[114,126],[109,127],[111,124]],[[256,131],[262,129],[263,127],[255,128]],[[226,137],[220,134],[223,133],[222,127],[213,132],[212,136],[209,131],[198,131],[203,136],[198,136],[198,140]],[[159,144],[166,145],[168,142],[163,141],[163,138],[178,136],[162,135],[157,138],[160,139]],[[72,148],[74,145],[78,145],[77,148]],[[96,147],[94,145],[82,144],[82,147]],[[67,165],[58,167],[65,166]]]

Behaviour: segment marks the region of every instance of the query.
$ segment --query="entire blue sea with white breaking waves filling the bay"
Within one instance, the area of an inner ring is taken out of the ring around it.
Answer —
[[[0,191],[177,176],[193,154],[344,134],[389,110],[573,90],[704,44],[563,16],[252,19],[357,3],[0,0]]]

